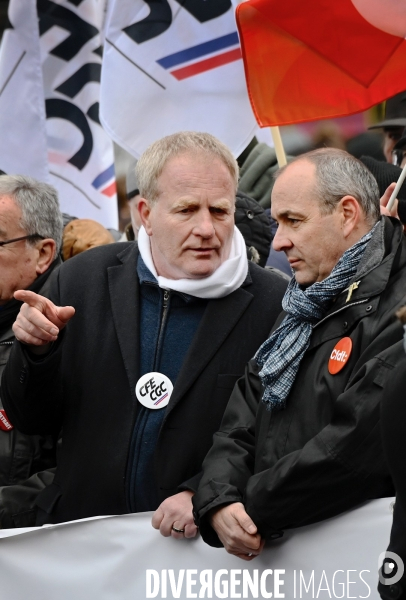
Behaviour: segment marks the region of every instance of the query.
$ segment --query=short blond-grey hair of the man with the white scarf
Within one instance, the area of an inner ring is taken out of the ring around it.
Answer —
[[[151,144],[137,162],[135,173],[141,196],[150,202],[158,199],[161,193],[158,179],[168,160],[179,154],[201,153],[224,163],[237,190],[238,164],[227,146],[210,133],[180,131]]]

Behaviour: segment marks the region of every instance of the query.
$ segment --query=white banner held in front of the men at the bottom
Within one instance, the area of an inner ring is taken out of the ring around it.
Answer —
[[[392,499],[286,531],[252,562],[200,538],[163,538],[149,513],[0,531],[7,600],[379,599]]]

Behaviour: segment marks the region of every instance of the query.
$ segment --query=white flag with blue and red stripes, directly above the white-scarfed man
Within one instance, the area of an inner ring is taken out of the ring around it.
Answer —
[[[110,0],[100,118],[136,157],[180,130],[238,156],[257,128],[231,0]],[[236,2],[234,2],[236,4]]]

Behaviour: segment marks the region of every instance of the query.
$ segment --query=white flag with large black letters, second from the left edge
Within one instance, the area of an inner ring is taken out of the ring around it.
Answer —
[[[117,227],[113,144],[99,121],[104,0],[37,0],[50,180],[64,212]]]

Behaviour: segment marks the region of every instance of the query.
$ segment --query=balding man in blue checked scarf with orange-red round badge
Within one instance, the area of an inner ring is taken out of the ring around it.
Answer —
[[[245,560],[285,528],[393,494],[379,419],[402,354],[402,226],[380,216],[367,168],[336,149],[278,172],[272,216],[274,248],[294,276],[234,388],[194,497],[205,541]]]

